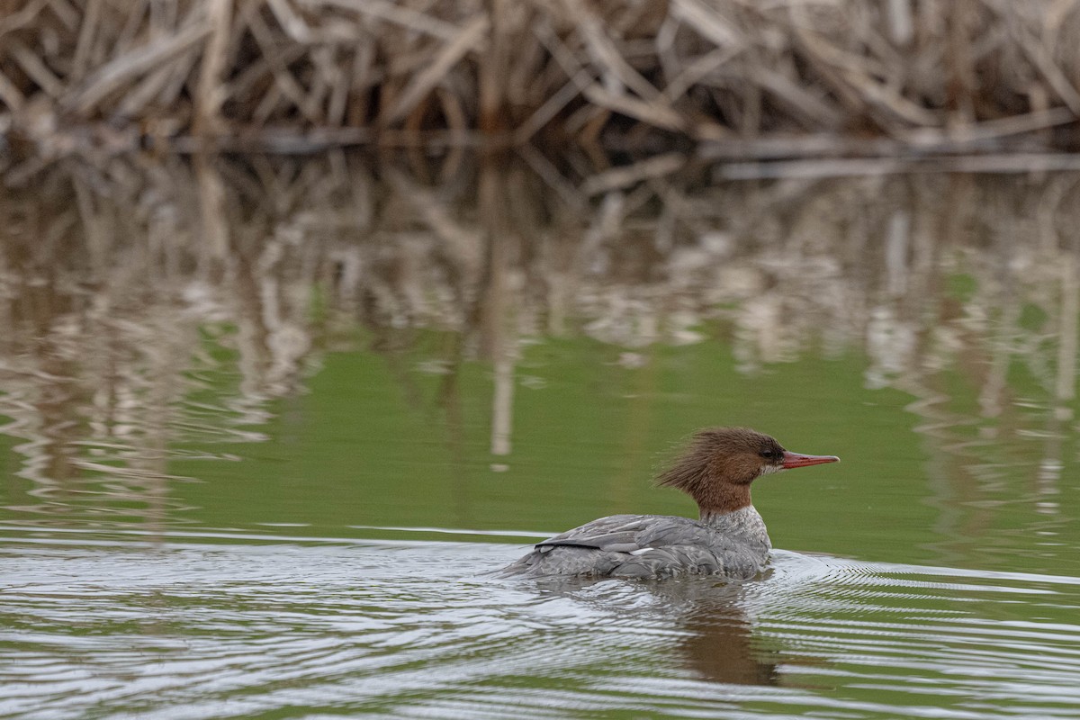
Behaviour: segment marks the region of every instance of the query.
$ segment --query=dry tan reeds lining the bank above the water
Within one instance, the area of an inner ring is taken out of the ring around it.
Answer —
[[[1077,78],[1074,0],[0,0],[0,135],[53,155],[1059,149]]]

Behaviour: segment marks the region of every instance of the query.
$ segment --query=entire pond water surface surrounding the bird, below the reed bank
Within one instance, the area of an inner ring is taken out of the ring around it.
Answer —
[[[1080,714],[1080,177],[427,162],[0,198],[0,716]],[[487,574],[721,423],[765,576]]]

